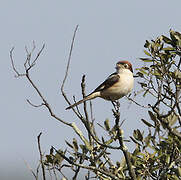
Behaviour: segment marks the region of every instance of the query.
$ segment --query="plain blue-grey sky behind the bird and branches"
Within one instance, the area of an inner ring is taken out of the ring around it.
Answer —
[[[65,86],[68,95],[81,97],[80,79],[87,77],[87,92],[99,85],[115,63],[126,59],[134,69],[141,64],[146,39],[168,35],[170,28],[181,30],[181,1],[106,1],[106,0],[1,0],[0,2],[0,179],[33,179],[24,160],[35,168],[38,164],[37,135],[42,149],[48,153],[51,145],[65,147],[64,140],[72,140],[71,129],[52,119],[44,108],[33,108],[26,99],[41,103],[25,79],[14,78],[9,51],[15,47],[15,64],[23,70],[25,45],[36,42],[37,50],[46,44],[32,78],[52,105],[55,113],[68,122],[80,122],[60,93],[74,28],[79,24],[73,50],[70,74]],[[135,83],[135,89],[138,85]],[[147,99],[138,99],[147,102]],[[93,101],[96,122],[112,118],[111,103]],[[144,130],[140,118],[145,110],[121,100],[123,130],[128,138],[134,129]],[[22,175],[22,173],[24,175]],[[13,177],[13,178],[12,178]],[[26,178],[25,178],[26,177]]]

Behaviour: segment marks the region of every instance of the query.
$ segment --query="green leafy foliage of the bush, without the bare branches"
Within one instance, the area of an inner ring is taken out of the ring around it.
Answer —
[[[147,135],[137,129],[130,137],[135,143],[135,150],[132,153],[128,152],[131,166],[136,179],[181,179],[181,34],[170,30],[170,37],[162,35],[155,40],[147,40],[144,47],[147,57],[140,58],[145,63],[137,69],[137,75],[143,97],[146,98],[149,94],[154,99],[154,103],[149,104],[148,110],[152,122],[150,119],[142,119],[148,127]],[[109,153],[106,153],[111,149],[109,146],[112,143],[118,141],[119,144],[116,124],[110,127],[109,120],[106,120],[104,130],[109,134],[107,141],[104,140],[107,137],[102,136],[100,140],[96,135],[99,133],[93,132],[94,137],[103,145],[94,140],[89,141],[90,147],[85,143],[78,144],[76,139],[73,139],[72,143],[66,142],[72,149],[69,159],[75,163],[86,162],[88,166],[93,166],[95,169],[89,171],[94,172],[98,179],[134,178],[130,178],[130,168],[125,157],[121,162],[113,164]],[[120,129],[119,131],[121,134]],[[126,148],[123,143],[122,146],[121,150]],[[62,152],[55,153],[47,155],[45,163],[47,166],[61,168],[64,159],[61,156]],[[80,166],[72,163],[71,168],[76,172]]]

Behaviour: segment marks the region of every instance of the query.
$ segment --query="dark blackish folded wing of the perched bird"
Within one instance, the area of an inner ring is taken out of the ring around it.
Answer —
[[[119,74],[113,73],[111,74],[102,84],[100,84],[93,92],[97,91],[103,91],[105,89],[108,89],[109,87],[113,86],[115,83],[119,81]]]

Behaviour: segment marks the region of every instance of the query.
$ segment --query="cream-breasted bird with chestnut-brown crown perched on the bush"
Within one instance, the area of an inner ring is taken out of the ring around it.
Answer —
[[[116,63],[115,69],[116,72],[108,76],[92,93],[68,106],[66,110],[97,97],[114,102],[129,94],[134,86],[132,64],[129,61],[121,60]]]

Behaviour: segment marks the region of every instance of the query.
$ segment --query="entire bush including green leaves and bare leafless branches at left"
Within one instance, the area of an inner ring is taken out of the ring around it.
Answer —
[[[76,30],[61,88],[62,95],[69,104],[69,98],[64,92],[64,83],[68,75]],[[114,125],[111,126],[108,119],[103,124],[99,124],[104,133],[95,130],[97,124],[92,116],[91,103],[90,107],[84,103],[83,113],[79,111],[78,107],[74,108],[73,112],[84,127],[80,130],[75,123],[68,123],[53,113],[46,98],[43,97],[29,75],[44,47],[34,60],[31,60],[33,51],[27,53],[24,65],[25,73],[23,74],[20,74],[14,66],[12,49],[10,56],[15,73],[17,76],[25,76],[42,99],[42,104],[39,106],[33,105],[30,101],[29,103],[35,107],[45,106],[53,118],[72,128],[77,134],[76,137],[79,137],[79,139],[73,138],[69,142],[65,141],[67,149],[57,150],[52,146],[50,153],[43,155],[40,147],[40,135],[38,136],[40,165],[44,180],[47,173],[55,179],[59,179],[60,176],[62,179],[67,179],[64,169],[70,171],[72,179],[79,179],[79,174],[87,180],[181,179],[181,34],[170,30],[169,37],[161,35],[155,40],[146,40],[144,47],[146,57],[140,58],[144,63],[142,67],[137,68],[136,76],[139,79],[142,98],[148,96],[151,98],[150,104],[145,108],[149,118],[141,119],[148,130],[147,132],[140,129],[134,130],[133,135],[130,136],[130,141],[135,147],[133,152],[130,152],[125,145],[119,103],[114,103],[112,110]],[[81,87],[84,97],[85,76],[82,78]],[[139,102],[135,103],[140,108],[143,107]],[[117,162],[113,162],[111,159],[113,151],[122,152]],[[83,169],[84,171],[82,171]],[[38,175],[32,173],[38,179]]]

